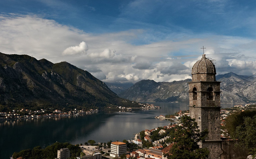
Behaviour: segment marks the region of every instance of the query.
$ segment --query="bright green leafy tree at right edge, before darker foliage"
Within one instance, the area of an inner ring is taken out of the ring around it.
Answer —
[[[231,137],[238,139],[236,147],[249,149],[249,154],[256,156],[256,115],[244,117],[244,123],[236,127]]]

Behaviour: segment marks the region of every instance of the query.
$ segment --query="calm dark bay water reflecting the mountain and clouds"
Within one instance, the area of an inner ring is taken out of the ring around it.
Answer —
[[[0,121],[0,159],[8,159],[13,152],[46,147],[56,141],[72,144],[88,140],[98,142],[130,140],[134,133],[168,125],[170,121],[155,116],[188,110],[188,103],[153,103],[162,109],[130,112],[101,112],[83,116]],[[222,104],[223,108],[234,104]]]

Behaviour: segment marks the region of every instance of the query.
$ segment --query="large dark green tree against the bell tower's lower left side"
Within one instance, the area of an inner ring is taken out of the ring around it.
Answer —
[[[181,117],[182,126],[176,126],[174,132],[173,147],[168,154],[168,159],[201,159],[207,158],[207,148],[199,148],[198,143],[205,140],[207,130],[200,133],[197,122],[189,116]]]

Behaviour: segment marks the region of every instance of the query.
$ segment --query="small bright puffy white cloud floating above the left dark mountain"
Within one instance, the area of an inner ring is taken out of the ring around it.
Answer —
[[[82,41],[78,46],[71,46],[63,51],[63,55],[86,54],[88,45]]]

